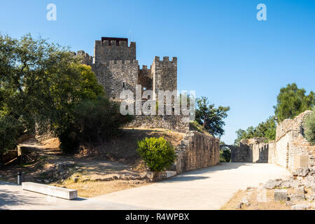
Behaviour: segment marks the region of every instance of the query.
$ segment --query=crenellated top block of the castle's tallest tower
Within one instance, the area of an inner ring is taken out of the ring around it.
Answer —
[[[95,63],[109,62],[110,60],[136,59],[136,43],[131,42],[130,46],[127,41],[95,41],[94,59]]]

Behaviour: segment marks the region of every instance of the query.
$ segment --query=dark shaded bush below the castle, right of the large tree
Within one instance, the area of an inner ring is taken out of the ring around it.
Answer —
[[[60,148],[68,153],[79,144],[103,144],[120,133],[120,127],[129,123],[132,116],[120,114],[119,105],[104,96],[85,100],[73,109],[73,120],[58,135]]]

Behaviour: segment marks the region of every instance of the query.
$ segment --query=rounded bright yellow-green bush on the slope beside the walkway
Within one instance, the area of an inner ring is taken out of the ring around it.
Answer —
[[[174,146],[162,137],[138,141],[137,152],[144,159],[146,166],[154,172],[164,171],[176,159]]]

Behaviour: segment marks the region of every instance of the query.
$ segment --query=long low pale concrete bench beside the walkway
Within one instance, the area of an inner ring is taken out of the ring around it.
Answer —
[[[77,190],[48,186],[41,183],[22,182],[22,190],[29,190],[43,195],[60,197],[66,200],[73,200],[78,197]]]

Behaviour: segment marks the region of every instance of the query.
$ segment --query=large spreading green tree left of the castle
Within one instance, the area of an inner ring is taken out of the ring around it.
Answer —
[[[20,40],[0,36],[0,116],[21,121],[28,132],[71,133],[73,110],[83,100],[104,95],[90,66],[68,48],[30,34]]]

